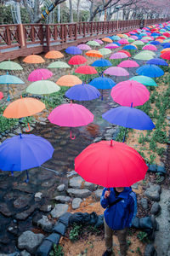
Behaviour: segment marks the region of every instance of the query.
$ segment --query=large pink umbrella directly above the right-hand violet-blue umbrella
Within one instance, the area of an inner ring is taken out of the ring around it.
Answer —
[[[113,101],[126,107],[143,105],[150,98],[150,91],[137,81],[127,80],[111,89]]]

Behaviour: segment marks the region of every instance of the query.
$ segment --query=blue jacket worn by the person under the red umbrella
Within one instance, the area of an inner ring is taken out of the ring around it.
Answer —
[[[137,200],[136,194],[133,192],[131,187],[125,187],[124,190],[118,195],[122,198],[122,201],[118,201],[115,205],[108,207],[113,201],[116,201],[116,195],[113,188],[111,188],[111,194],[105,198],[104,189],[100,204],[105,209],[104,216],[105,222],[112,230],[123,230],[126,227],[130,227],[133,218],[137,213]]]

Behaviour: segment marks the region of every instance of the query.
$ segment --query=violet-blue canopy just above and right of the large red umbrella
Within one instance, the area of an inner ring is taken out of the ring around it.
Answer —
[[[103,119],[111,124],[121,125],[137,130],[152,130],[155,128],[150,117],[143,111],[131,107],[112,108],[102,114]]]

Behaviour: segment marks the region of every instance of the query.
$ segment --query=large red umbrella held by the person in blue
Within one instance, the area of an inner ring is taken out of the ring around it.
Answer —
[[[129,187],[144,179],[147,170],[135,149],[115,141],[93,143],[75,159],[75,171],[79,175],[106,188]]]

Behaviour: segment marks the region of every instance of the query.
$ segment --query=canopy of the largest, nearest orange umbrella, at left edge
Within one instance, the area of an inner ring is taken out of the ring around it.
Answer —
[[[3,116],[8,119],[20,119],[41,112],[45,104],[34,98],[21,98],[11,102],[4,110]]]

